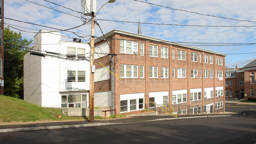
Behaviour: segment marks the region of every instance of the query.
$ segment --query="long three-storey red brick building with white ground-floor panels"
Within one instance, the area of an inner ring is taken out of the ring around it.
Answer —
[[[169,103],[176,113],[224,111],[225,54],[117,29],[96,38],[95,51],[95,106],[117,113],[153,103]]]

